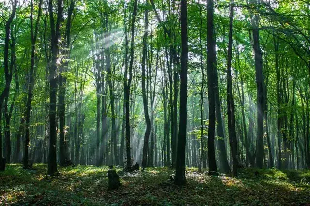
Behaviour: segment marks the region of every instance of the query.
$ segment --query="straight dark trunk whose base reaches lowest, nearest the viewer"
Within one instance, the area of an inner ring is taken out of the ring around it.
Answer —
[[[187,63],[188,63],[188,37],[187,37],[187,0],[181,0],[181,71],[180,71],[180,108],[179,108],[179,134],[177,147],[177,160],[175,170],[175,183],[183,185],[185,178],[185,147],[187,130]]]

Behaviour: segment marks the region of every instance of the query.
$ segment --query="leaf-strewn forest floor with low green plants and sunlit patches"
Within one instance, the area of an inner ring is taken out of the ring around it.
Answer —
[[[8,165],[0,172],[0,205],[308,205],[310,171],[243,169],[238,178],[208,176],[186,168],[186,186],[169,179],[173,170],[147,168],[124,173],[121,187],[108,191],[108,167],[60,167],[47,177],[47,165],[24,170]]]

